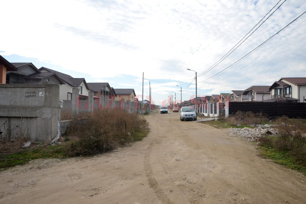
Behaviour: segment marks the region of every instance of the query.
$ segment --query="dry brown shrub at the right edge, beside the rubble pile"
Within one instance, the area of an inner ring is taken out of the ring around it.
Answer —
[[[306,124],[300,119],[279,118],[275,121],[278,135],[262,137],[262,145],[272,147],[278,151],[288,151],[297,163],[306,164]]]

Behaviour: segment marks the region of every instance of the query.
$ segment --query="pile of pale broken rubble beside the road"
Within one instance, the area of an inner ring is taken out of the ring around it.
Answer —
[[[276,125],[256,125],[256,128],[229,128],[230,134],[232,137],[244,137],[249,139],[251,142],[259,141],[259,137],[262,135],[270,134],[275,135],[277,134],[277,129],[275,128]]]

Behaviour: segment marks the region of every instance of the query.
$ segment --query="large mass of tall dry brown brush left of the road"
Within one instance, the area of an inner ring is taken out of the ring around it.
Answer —
[[[133,140],[145,123],[142,116],[122,109],[95,109],[73,119],[68,136],[71,156],[92,155]]]

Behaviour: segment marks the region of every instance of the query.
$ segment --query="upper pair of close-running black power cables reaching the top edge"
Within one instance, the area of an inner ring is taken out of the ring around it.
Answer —
[[[281,0],[280,0],[281,1]],[[277,4],[275,5],[275,6],[277,6],[278,5],[278,3],[280,2],[280,1],[278,1],[277,2]],[[286,0],[285,0],[286,1]],[[285,3],[285,1],[284,2],[282,2],[282,4],[283,3]],[[280,6],[278,6],[278,8],[279,7],[281,7],[282,6],[282,4],[280,5]],[[275,6],[273,6],[273,8],[272,9],[274,9],[274,7]],[[277,11],[278,10],[278,8],[277,9],[275,9],[274,10],[274,12],[275,11]],[[244,35],[244,37],[235,45],[235,46],[233,46],[233,48],[232,49],[230,49],[230,51],[231,50],[233,50],[244,38],[245,38],[245,36],[247,36],[259,23],[260,23],[260,21],[262,21],[271,11],[272,11],[272,9],[261,19],[261,20],[259,20],[259,22],[246,34],[246,35]],[[274,13],[273,12],[273,13]],[[267,19],[266,20],[268,20],[268,18],[269,17],[271,17],[271,15],[273,14],[273,13],[271,13],[268,17],[267,17]],[[246,39],[248,39],[266,20],[264,20]],[[244,39],[244,41],[246,40],[246,39]],[[244,41],[242,41],[233,51],[235,51],[242,43],[244,43]],[[202,76],[202,75],[204,75],[204,74],[206,74],[207,72],[209,72],[211,69],[214,69],[218,64],[220,64],[224,59],[226,59],[226,57],[228,57],[233,51],[228,51],[223,57],[221,57],[214,65],[212,65],[210,68],[208,68],[208,69],[206,69],[204,72],[202,72],[202,73],[200,73],[199,74],[199,76],[198,77],[200,77],[200,76]],[[230,52],[230,54],[228,54]],[[227,56],[226,56],[227,55]],[[226,56],[226,57],[225,57]],[[221,60],[221,61],[220,61]]]

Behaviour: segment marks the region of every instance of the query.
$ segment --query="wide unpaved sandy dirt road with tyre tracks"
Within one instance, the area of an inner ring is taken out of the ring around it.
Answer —
[[[34,160],[0,172],[0,203],[305,203],[306,179],[256,146],[179,113],[146,116],[151,132],[90,158]]]

